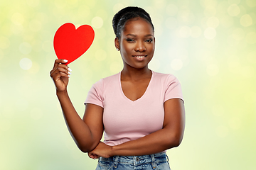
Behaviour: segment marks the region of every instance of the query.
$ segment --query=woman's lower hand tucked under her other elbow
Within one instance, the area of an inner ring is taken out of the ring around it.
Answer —
[[[97,159],[99,157],[112,157],[111,155],[112,147],[109,145],[106,145],[103,142],[100,142],[95,149],[93,149],[91,152],[88,152],[88,156],[92,159]]]

